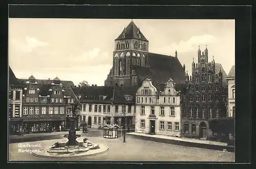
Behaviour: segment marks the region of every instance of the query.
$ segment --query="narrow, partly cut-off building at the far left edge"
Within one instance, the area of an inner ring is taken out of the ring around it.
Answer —
[[[22,86],[9,67],[9,133],[16,134],[20,132],[23,125],[22,119]]]

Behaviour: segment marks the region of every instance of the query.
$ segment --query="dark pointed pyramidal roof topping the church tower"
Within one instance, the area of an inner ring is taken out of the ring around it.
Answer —
[[[131,21],[127,27],[125,27],[122,31],[122,33],[116,38],[115,40],[120,40],[122,38],[122,34],[125,34],[125,39],[141,39],[144,41],[148,40],[145,38],[145,36],[140,32],[140,29],[136,26],[136,24]],[[139,38],[138,34],[141,35],[141,38]]]

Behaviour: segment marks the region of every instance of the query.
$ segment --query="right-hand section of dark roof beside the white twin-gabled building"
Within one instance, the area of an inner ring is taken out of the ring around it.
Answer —
[[[114,104],[134,104],[138,87],[114,87]],[[125,95],[132,96],[132,100],[126,100]]]

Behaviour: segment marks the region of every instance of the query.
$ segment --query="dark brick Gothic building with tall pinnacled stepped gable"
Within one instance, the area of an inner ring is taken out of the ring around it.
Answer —
[[[198,63],[192,63],[192,76],[186,74],[182,96],[182,136],[207,139],[208,120],[226,117],[227,82],[221,64],[208,61],[207,47],[198,50]]]

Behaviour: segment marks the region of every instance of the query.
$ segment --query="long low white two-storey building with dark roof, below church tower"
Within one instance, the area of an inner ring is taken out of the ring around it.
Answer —
[[[134,87],[77,87],[73,89],[82,104],[81,122],[92,128],[117,124],[135,125]]]

